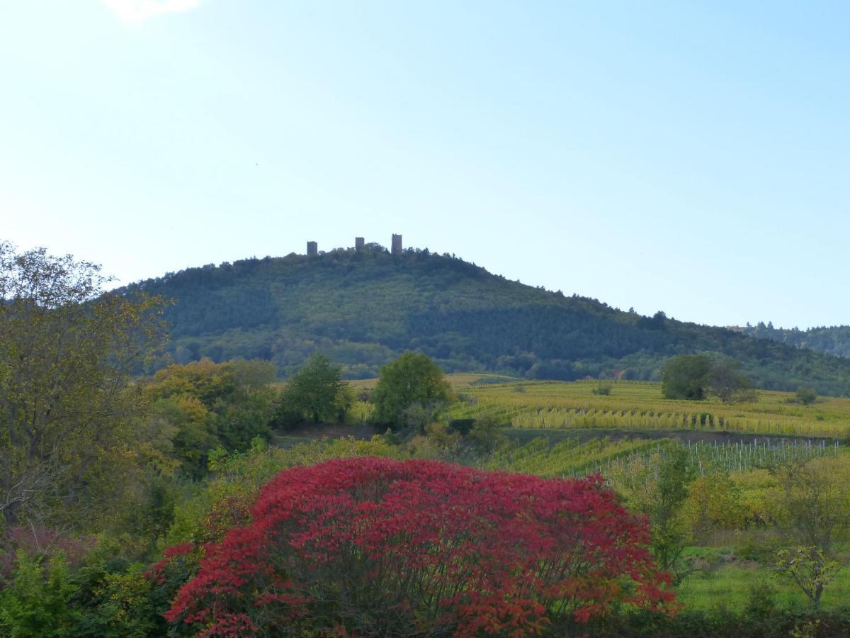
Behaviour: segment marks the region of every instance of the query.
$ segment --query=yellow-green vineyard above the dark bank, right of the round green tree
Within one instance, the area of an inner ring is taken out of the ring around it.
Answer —
[[[596,381],[470,384],[452,419],[493,419],[513,428],[697,430],[733,434],[826,437],[850,434],[850,399],[824,397],[811,407],[788,392],[761,391],[756,402],[672,401],[660,384],[617,381],[594,394]]]

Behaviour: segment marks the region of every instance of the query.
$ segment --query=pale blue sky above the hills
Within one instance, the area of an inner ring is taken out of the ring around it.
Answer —
[[[0,239],[116,283],[455,253],[642,314],[850,323],[850,3],[0,0]]]

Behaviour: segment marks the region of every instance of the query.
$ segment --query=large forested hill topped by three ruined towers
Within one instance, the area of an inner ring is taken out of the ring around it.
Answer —
[[[657,379],[667,357],[713,351],[740,360],[760,387],[850,393],[850,361],[663,312],[640,316],[547,292],[427,249],[391,255],[373,244],[359,252],[245,259],[169,273],[123,292],[136,290],[175,300],[166,318],[178,362],[263,358],[287,374],[323,350],[348,378],[366,378],[411,349],[447,372]]]

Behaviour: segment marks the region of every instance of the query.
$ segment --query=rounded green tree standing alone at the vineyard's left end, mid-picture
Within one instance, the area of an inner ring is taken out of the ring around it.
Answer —
[[[381,367],[372,402],[375,420],[394,430],[406,423],[405,413],[416,413],[420,421],[433,420],[433,413],[451,396],[449,382],[440,367],[428,356],[407,351]],[[422,419],[422,410],[428,418]]]

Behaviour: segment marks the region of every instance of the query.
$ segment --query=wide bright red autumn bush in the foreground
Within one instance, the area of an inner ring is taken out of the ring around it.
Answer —
[[[169,622],[207,636],[533,635],[672,601],[645,523],[598,476],[336,459],[280,473],[252,517],[207,545]]]

